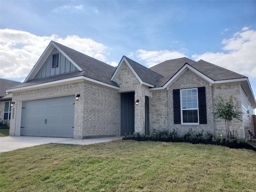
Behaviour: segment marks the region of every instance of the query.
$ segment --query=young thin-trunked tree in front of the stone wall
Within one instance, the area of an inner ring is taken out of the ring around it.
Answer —
[[[227,138],[229,138],[230,126],[231,126],[232,120],[238,119],[242,121],[242,119],[240,119],[240,114],[243,114],[243,113],[239,110],[238,103],[234,105],[232,95],[230,96],[228,102],[224,102],[224,100],[220,97],[218,103],[214,105],[215,105],[215,111],[216,111],[214,112],[214,115],[216,115],[217,118],[221,118],[225,120],[226,134],[227,134]]]

